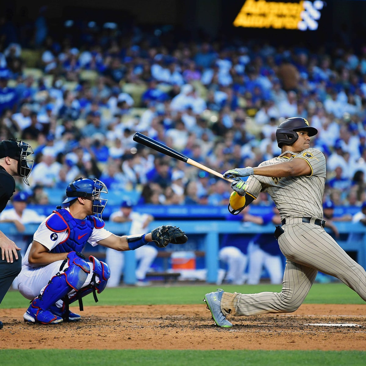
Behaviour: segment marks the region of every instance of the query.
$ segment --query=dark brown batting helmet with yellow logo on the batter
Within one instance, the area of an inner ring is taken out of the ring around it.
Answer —
[[[305,118],[291,117],[285,119],[276,130],[278,147],[282,147],[282,145],[292,145],[299,138],[296,131],[302,130],[307,131],[309,136],[314,136],[318,133],[316,128],[309,126],[309,122],[307,122]]]

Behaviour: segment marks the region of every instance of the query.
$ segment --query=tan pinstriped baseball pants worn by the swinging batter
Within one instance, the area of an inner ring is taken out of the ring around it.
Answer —
[[[224,315],[291,313],[299,308],[318,270],[340,279],[366,301],[366,272],[318,225],[284,225],[278,242],[287,258],[281,292],[239,294],[224,292]]]

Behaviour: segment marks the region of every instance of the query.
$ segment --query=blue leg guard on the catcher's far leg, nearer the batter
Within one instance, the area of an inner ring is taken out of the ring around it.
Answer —
[[[93,263],[93,277],[91,279],[90,285],[82,288],[77,291],[75,296],[68,300],[68,303],[71,304],[76,300],[79,300],[80,310],[83,310],[83,304],[81,298],[93,292],[95,302],[98,302],[97,294],[100,294],[107,285],[108,279],[111,276],[111,271],[109,270],[108,264],[104,262],[100,262],[97,258],[90,255],[90,262]],[[99,281],[97,282],[96,276],[98,276]]]

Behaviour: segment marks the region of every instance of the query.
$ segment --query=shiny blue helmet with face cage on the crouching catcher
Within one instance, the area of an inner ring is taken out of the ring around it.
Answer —
[[[103,182],[98,179],[78,178],[72,181],[66,188],[67,198],[62,203],[69,203],[78,197],[91,197],[93,200],[93,214],[102,218],[102,212],[108,199],[100,197],[101,193],[108,193]]]

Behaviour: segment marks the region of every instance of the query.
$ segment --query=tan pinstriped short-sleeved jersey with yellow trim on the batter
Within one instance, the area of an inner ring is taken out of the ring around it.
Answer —
[[[246,193],[257,198],[260,192],[268,192],[280,211],[281,219],[287,216],[323,217],[322,199],[325,184],[325,157],[314,148],[297,155],[275,157],[259,165],[281,163],[285,160],[304,159],[311,168],[309,176],[270,178],[251,175],[247,180]]]

